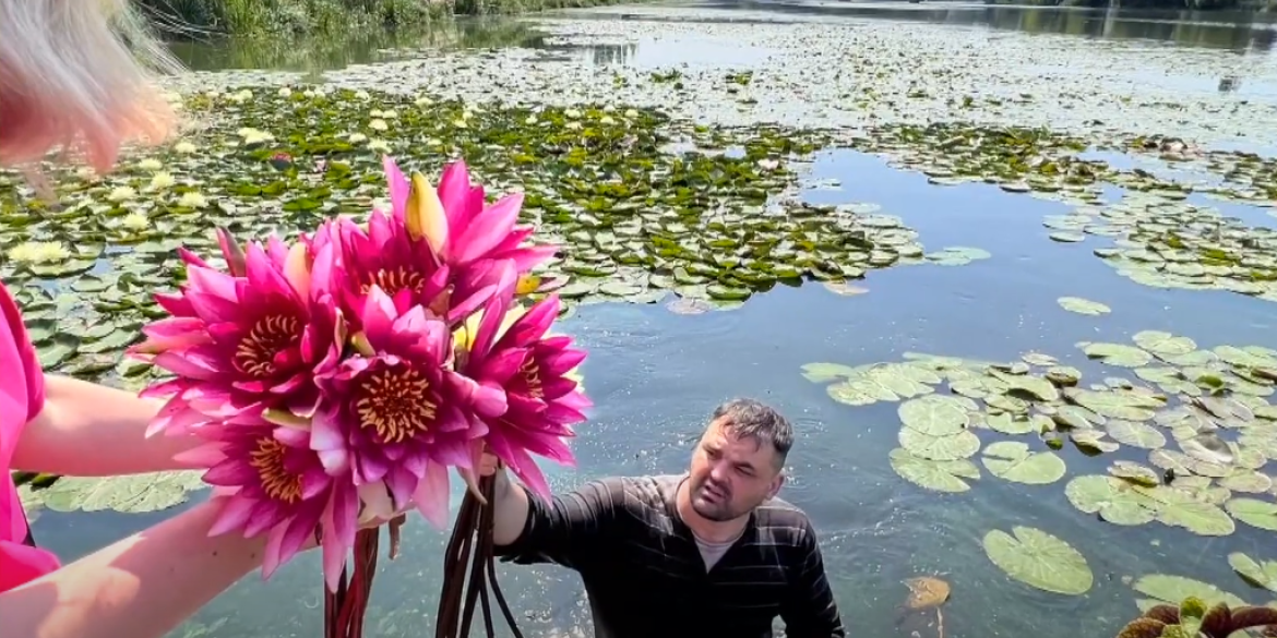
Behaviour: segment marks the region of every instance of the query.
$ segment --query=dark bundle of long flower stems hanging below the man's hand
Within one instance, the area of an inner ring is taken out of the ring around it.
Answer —
[[[493,477],[481,478],[479,491],[489,504],[493,503]],[[435,614],[435,638],[469,637],[475,604],[483,609],[485,635],[494,638],[492,604],[488,600],[489,588],[492,595],[497,597],[497,605],[501,607],[511,634],[515,638],[522,638],[524,634],[515,624],[515,615],[510,611],[506,596],[497,584],[492,527],[492,507],[484,507],[474,494],[466,493],[443,559],[443,591],[439,595],[439,610]],[[474,550],[472,555],[471,550]],[[469,583],[466,579],[467,561],[470,567]]]

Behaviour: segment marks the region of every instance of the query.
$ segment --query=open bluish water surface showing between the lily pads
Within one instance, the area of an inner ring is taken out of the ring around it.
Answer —
[[[784,6],[716,5],[715,19],[821,13],[890,23],[922,20],[954,29],[985,28],[988,46],[1020,33],[1056,33],[1130,38],[1129,47],[1161,47],[1152,38],[1185,47],[1185,56],[1208,47],[1213,55],[1258,63],[1273,43],[1271,19],[1230,14],[1140,14],[985,6],[863,5],[802,3]],[[619,14],[673,19],[678,9],[622,8],[595,11],[598,19]],[[1198,20],[1198,22],[1193,22]],[[1207,22],[1209,20],[1209,22]],[[489,27],[490,28],[490,27]],[[471,48],[497,43],[554,46],[521,28],[504,34],[465,27],[433,36],[448,46]],[[470,31],[466,31],[470,29]],[[458,36],[469,33],[469,36]],[[481,33],[487,33],[485,36]],[[401,34],[317,57],[254,57],[243,45],[184,45],[181,55],[202,68],[280,66],[290,70],[338,69],[402,56],[404,48],[430,43]],[[469,38],[469,40],[467,40]],[[438,43],[437,42],[437,43]],[[387,52],[395,48],[398,52]],[[300,50],[300,48],[299,48]],[[235,52],[240,51],[240,52]],[[1243,54],[1249,51],[1249,54]],[[688,37],[600,43],[561,48],[571,64],[623,64],[664,68],[697,64],[748,64],[773,52],[750,42]],[[275,55],[275,54],[271,54]],[[412,54],[424,55],[424,54]],[[753,59],[753,57],[750,57]],[[282,60],[282,61],[281,61]],[[1243,84],[1243,88],[1246,88]],[[1204,88],[1203,88],[1204,89]],[[1274,101],[1277,93],[1253,88],[1250,100]],[[1135,162],[1116,156],[1106,161]],[[1165,170],[1148,166],[1149,170]],[[1167,526],[1119,528],[1079,514],[1064,498],[1062,484],[1027,486],[981,481],[962,495],[923,491],[900,480],[888,464],[896,447],[898,417],[891,403],[850,408],[831,401],[822,387],[798,374],[802,364],[848,365],[898,360],[903,352],[931,352],[985,360],[1011,360],[1036,350],[1105,376],[1098,364],[1074,347],[1079,341],[1124,342],[1142,329],[1162,329],[1195,339],[1277,347],[1277,311],[1269,302],[1222,291],[1157,290],[1117,276],[1091,251],[1108,245],[1102,237],[1082,244],[1047,239],[1042,218],[1068,207],[1004,193],[988,185],[932,186],[926,177],[895,170],[879,157],[849,151],[821,153],[811,177],[838,186],[805,193],[813,203],[873,203],[916,228],[928,246],[978,246],[992,258],[962,268],[908,267],[873,271],[862,282],[868,293],[843,297],[820,286],[779,287],[751,299],[742,309],[681,316],[659,305],[593,305],[562,328],[590,350],[584,373],[598,408],[576,444],[580,471],[550,468],[553,482],[568,489],[589,477],[617,473],[677,472],[690,444],[714,406],[732,396],[755,396],[785,411],[799,430],[790,454],[792,481],[783,496],[805,508],[821,533],[826,567],[849,635],[894,637],[927,632],[925,624],[900,621],[903,581],[945,574],[954,597],[945,607],[950,638],[1022,637],[1105,638],[1135,612],[1124,577],[1165,572],[1254,592],[1236,581],[1228,551],[1271,553],[1273,537],[1248,526],[1208,540]],[[1186,177],[1185,177],[1186,179]],[[1110,200],[1122,197],[1110,189]],[[1272,209],[1217,205],[1251,225],[1277,225]],[[1080,316],[1056,305],[1060,296],[1084,296],[1114,309],[1102,318]],[[1061,452],[1070,475],[1103,472],[1110,459],[1087,458],[1071,447]],[[1124,449],[1119,458],[1130,457]],[[1140,458],[1142,459],[1142,458]],[[460,493],[456,495],[460,500]],[[36,523],[41,542],[65,559],[92,551],[125,533],[169,516],[45,513]],[[1037,592],[1008,581],[979,549],[994,527],[1029,524],[1060,536],[1082,550],[1096,573],[1085,596]],[[438,551],[443,536],[421,521],[406,528],[405,555],[383,568],[369,612],[370,637],[428,634],[439,587]],[[318,556],[287,565],[269,586],[249,577],[203,610],[178,637],[309,637],[319,632],[322,598]],[[587,635],[589,612],[573,574],[559,569],[507,568],[502,583],[521,610],[525,635]],[[1250,596],[1263,602],[1272,596]],[[935,634],[921,633],[923,638]]]

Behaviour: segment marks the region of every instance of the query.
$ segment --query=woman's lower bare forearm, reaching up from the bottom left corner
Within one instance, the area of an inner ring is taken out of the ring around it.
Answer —
[[[208,537],[203,503],[22,587],[0,593],[4,635],[160,638],[262,564],[264,536]]]

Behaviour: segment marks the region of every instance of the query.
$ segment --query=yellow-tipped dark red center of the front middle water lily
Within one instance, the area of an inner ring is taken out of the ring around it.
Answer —
[[[355,402],[359,426],[382,443],[400,443],[429,429],[439,407],[430,401],[430,382],[406,366],[383,367],[364,378]]]

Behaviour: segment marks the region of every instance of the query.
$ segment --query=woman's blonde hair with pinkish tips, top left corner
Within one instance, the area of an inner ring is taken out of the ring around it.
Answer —
[[[61,147],[106,171],[176,116],[156,84],[179,71],[129,0],[0,0],[0,163]]]

